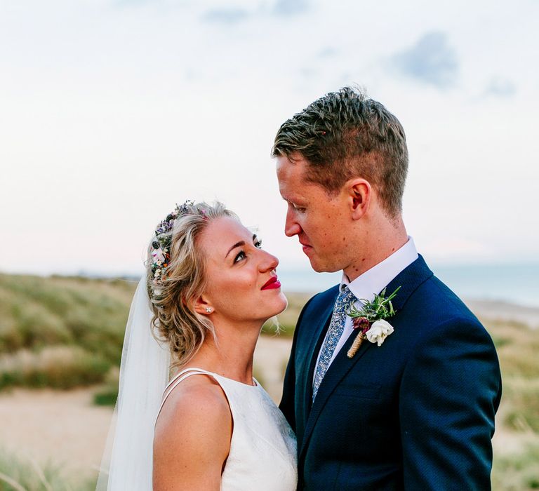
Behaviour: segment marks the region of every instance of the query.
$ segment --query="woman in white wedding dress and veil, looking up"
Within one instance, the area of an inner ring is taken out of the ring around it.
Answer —
[[[286,308],[277,264],[220,203],[159,224],[98,490],[295,490],[293,431],[253,378],[260,328]]]

